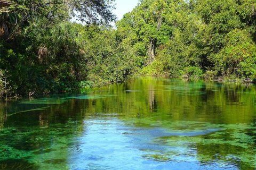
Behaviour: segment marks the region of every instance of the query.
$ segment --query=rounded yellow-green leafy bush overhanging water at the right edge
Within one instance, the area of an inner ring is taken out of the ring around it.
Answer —
[[[218,70],[225,77],[256,78],[256,47],[249,35],[238,29],[227,34],[226,46],[215,58]]]

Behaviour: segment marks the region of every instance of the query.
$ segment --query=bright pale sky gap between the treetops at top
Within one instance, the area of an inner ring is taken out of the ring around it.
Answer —
[[[123,15],[131,12],[138,3],[139,0],[116,0],[116,10],[113,13],[116,14],[118,20],[121,20]]]

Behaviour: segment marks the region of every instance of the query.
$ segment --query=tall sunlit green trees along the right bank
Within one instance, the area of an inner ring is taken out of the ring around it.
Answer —
[[[141,58],[142,68],[148,65],[142,74],[252,81],[255,8],[251,0],[143,0],[117,23],[119,41]]]

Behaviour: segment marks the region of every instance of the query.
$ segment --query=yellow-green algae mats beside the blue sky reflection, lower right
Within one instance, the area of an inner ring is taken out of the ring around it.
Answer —
[[[161,127],[162,131],[156,131],[152,138],[154,143],[162,143],[170,147],[182,147],[188,150],[194,148],[197,152],[197,160],[201,162],[237,162],[243,163],[247,168],[256,167],[256,133],[254,124],[212,124],[193,121],[155,121],[154,118],[126,118],[127,124],[138,127],[155,129]],[[202,134],[202,131],[216,129]],[[250,133],[248,133],[250,132]],[[194,135],[195,134],[195,135]],[[196,135],[197,134],[197,135]],[[184,154],[182,152],[159,152],[146,155],[157,161],[171,162],[175,157]],[[186,153],[186,155],[189,155]]]

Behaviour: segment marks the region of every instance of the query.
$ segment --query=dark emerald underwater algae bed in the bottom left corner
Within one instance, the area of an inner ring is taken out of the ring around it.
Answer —
[[[68,169],[66,166],[67,148],[72,144],[70,139],[76,134],[77,122],[55,124],[47,129],[40,128],[6,128],[0,131],[0,160],[3,169]],[[5,161],[4,161],[5,160]],[[17,160],[17,164],[7,165],[9,160]],[[28,167],[21,166],[18,160],[26,160]],[[7,162],[7,163],[6,163]],[[52,165],[55,164],[55,165]],[[31,165],[31,166],[30,166]],[[33,169],[33,168],[31,168]]]

